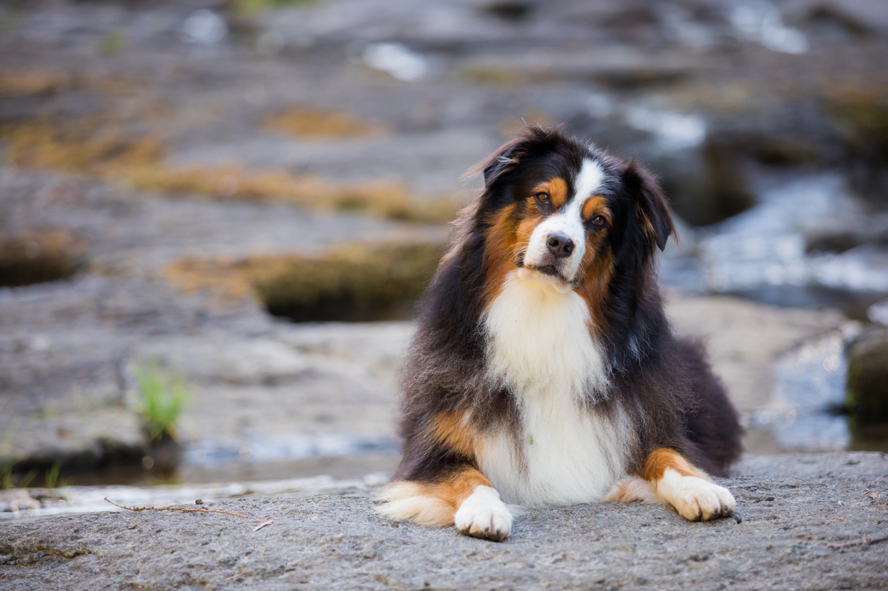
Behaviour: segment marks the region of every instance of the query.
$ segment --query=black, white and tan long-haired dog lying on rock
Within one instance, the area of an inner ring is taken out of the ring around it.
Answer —
[[[676,228],[654,176],[541,127],[481,170],[419,314],[378,511],[496,541],[506,502],[730,516],[709,475],[739,457],[742,428],[702,344],[663,312],[656,249]]]

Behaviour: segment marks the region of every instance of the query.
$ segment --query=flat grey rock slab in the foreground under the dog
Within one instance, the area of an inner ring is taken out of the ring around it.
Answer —
[[[749,456],[737,515],[640,504],[527,509],[503,543],[373,513],[366,496],[247,498],[0,525],[4,589],[884,589],[888,455]],[[869,493],[876,493],[873,499]],[[192,505],[192,508],[195,506]],[[203,507],[208,507],[204,505]]]

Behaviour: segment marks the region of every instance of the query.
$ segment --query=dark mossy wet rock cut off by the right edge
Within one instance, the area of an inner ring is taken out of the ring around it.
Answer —
[[[848,411],[861,425],[888,422],[888,327],[869,327],[846,354]]]

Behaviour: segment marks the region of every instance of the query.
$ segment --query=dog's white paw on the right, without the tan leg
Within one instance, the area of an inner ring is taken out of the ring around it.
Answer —
[[[719,486],[698,477],[681,476],[673,469],[663,473],[657,492],[676,508],[678,515],[690,521],[709,521],[733,513],[733,495]]]

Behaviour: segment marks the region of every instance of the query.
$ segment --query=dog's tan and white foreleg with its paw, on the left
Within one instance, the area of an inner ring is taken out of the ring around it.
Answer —
[[[474,538],[500,541],[511,533],[511,514],[499,493],[477,469],[464,467],[432,483],[400,480],[379,494],[385,505],[377,509],[393,519],[416,524],[456,528]]]

